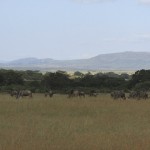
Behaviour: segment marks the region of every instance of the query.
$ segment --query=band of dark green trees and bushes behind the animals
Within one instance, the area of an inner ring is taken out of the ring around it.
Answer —
[[[0,91],[29,89],[32,92],[45,92],[53,89],[59,92],[67,92],[70,89],[91,89],[99,92],[113,90],[149,90],[150,70],[139,70],[133,75],[123,73],[118,75],[114,72],[83,74],[76,71],[73,75],[65,71],[46,72],[40,71],[15,71],[0,70]]]

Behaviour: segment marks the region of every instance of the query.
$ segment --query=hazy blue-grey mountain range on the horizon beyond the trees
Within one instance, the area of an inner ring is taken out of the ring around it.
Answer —
[[[149,52],[101,54],[89,59],[53,60],[24,58],[0,63],[1,68],[38,70],[139,70],[150,69]]]

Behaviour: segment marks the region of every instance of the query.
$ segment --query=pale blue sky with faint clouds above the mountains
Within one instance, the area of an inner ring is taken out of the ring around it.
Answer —
[[[0,60],[150,52],[150,0],[0,0]]]

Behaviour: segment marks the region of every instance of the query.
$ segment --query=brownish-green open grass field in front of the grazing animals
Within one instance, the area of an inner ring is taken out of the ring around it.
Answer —
[[[0,95],[0,150],[149,150],[150,100]]]

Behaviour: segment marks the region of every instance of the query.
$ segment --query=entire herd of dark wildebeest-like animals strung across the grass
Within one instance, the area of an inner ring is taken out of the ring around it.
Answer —
[[[30,90],[12,90],[10,92],[10,95],[12,97],[16,97],[16,99],[23,98],[23,97],[30,97],[32,98],[32,92]],[[80,97],[80,98],[85,98],[86,95],[89,97],[97,97],[99,93],[97,93],[95,90],[91,90],[88,93],[85,93],[84,91],[79,91],[79,90],[70,90],[67,93],[68,98],[73,98],[73,97]],[[52,90],[49,90],[44,93],[45,97],[50,97],[52,98],[54,96],[54,92]],[[126,94],[124,91],[113,91],[110,93],[110,96],[112,99],[117,100],[126,100],[126,99],[148,99],[148,93],[145,91],[131,91],[129,94]]]

